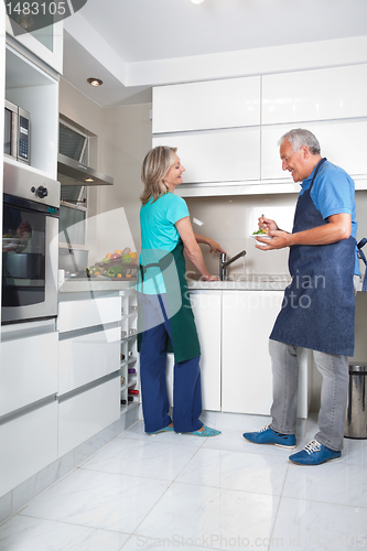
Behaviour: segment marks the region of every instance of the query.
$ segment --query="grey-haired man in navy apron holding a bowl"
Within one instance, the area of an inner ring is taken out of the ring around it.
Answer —
[[[348,391],[348,356],[354,354],[354,274],[357,223],[354,182],[322,159],[315,136],[303,129],[279,141],[282,169],[301,182],[292,234],[261,217],[272,237],[258,238],[261,250],[290,247],[291,284],[269,341],[273,371],[272,422],[245,433],[256,444],[295,447],[298,347],[313,350],[323,376],[319,432],[304,450],[290,456],[300,465],[320,465],[342,456]]]

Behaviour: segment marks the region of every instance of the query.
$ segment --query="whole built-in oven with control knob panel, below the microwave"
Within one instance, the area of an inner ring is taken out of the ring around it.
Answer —
[[[57,315],[60,184],[4,161],[1,324]]]

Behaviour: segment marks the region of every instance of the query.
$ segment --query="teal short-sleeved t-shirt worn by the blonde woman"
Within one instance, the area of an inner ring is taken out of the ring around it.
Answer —
[[[154,201],[151,198],[140,208],[141,253],[140,263],[147,266],[158,262],[168,252],[175,249],[180,241],[180,234],[175,223],[190,216],[186,202],[166,193]],[[144,283],[141,289],[140,274],[138,278],[138,291],[145,294],[165,293],[163,277],[159,268],[148,268],[144,274]]]

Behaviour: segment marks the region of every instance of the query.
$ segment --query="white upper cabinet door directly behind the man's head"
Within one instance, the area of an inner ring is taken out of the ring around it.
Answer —
[[[261,179],[293,182],[288,171],[282,171],[279,139],[290,130],[289,125],[263,127],[261,132]],[[321,153],[352,176],[367,174],[367,120],[334,120],[306,122],[302,128],[313,132],[321,145]],[[350,154],[353,151],[353,154]]]

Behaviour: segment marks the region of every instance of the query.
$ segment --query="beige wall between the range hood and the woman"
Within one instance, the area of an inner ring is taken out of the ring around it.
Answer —
[[[104,109],[61,79],[60,112],[96,134],[89,164],[114,177],[112,186],[89,187],[89,264],[116,249],[140,250],[140,168],[152,144],[150,110],[151,104]]]

